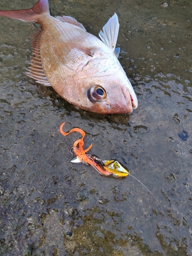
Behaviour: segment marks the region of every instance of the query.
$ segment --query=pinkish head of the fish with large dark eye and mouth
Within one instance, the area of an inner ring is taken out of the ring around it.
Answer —
[[[91,71],[95,67],[98,69],[93,74]],[[81,81],[83,84],[78,88],[83,90],[78,90],[78,103],[81,103],[78,106],[84,110],[99,114],[124,114],[132,113],[137,108],[137,96],[132,84],[119,66],[105,65],[102,68],[98,63],[89,68],[84,79],[81,76]]]

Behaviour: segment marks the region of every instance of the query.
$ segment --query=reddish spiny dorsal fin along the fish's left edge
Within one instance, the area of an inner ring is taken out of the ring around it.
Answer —
[[[47,77],[44,73],[44,69],[42,67],[41,59],[40,59],[40,37],[41,37],[41,29],[39,28],[35,33],[31,35],[31,46],[32,46],[32,57],[31,57],[31,67],[27,69],[29,72],[26,73],[27,76],[35,79],[36,82],[44,84],[44,86],[51,86]]]

